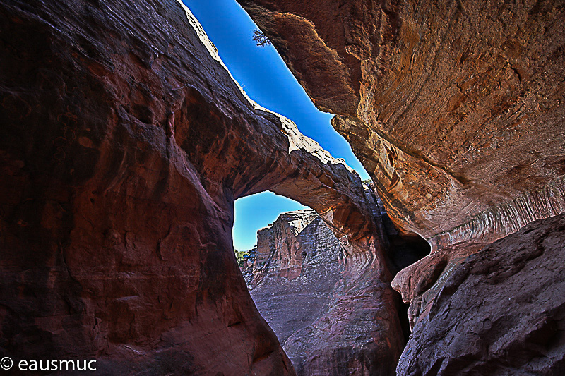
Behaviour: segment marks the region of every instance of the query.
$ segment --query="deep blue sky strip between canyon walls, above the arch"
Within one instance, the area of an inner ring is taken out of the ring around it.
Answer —
[[[343,159],[363,180],[369,179],[351,145],[331,125],[333,114],[314,106],[273,45],[259,47],[254,41],[257,25],[237,1],[183,2],[201,23],[246,95],[296,123],[303,135],[318,142],[333,157]]]

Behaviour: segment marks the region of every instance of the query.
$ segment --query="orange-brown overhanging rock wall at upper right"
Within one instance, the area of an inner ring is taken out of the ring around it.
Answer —
[[[433,248],[565,211],[561,1],[239,0]]]

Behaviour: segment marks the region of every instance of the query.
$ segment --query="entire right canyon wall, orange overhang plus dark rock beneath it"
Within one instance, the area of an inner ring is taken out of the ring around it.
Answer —
[[[238,1],[432,245],[398,374],[561,375],[564,4]]]

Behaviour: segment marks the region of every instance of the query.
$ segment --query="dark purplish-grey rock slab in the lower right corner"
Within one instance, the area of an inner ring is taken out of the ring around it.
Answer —
[[[398,375],[564,375],[564,250],[561,214],[424,278],[434,286]]]

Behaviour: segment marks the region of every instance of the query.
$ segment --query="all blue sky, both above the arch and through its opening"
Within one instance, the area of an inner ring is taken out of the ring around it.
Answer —
[[[331,126],[331,114],[314,107],[273,46],[258,47],[255,23],[235,0],[183,0],[196,16],[234,78],[255,102],[286,116],[298,129],[316,140],[333,157],[343,158],[361,178],[369,175],[351,147]],[[274,193],[258,193],[235,202],[234,248],[249,250],[258,229],[282,212],[304,208]]]

